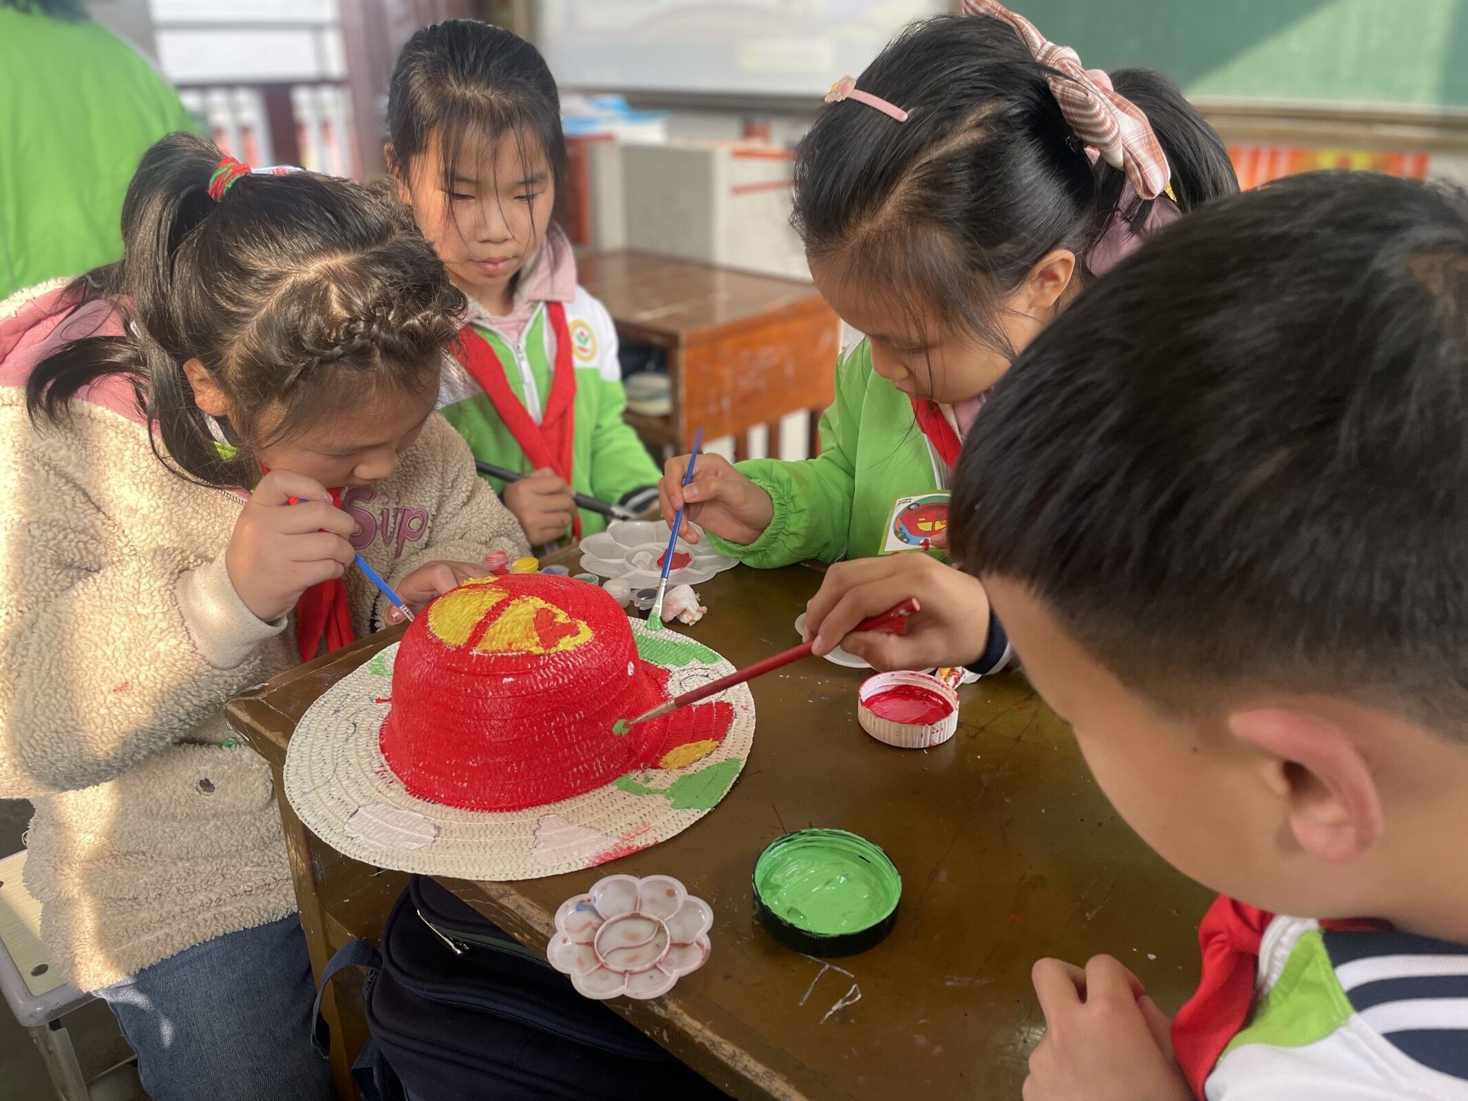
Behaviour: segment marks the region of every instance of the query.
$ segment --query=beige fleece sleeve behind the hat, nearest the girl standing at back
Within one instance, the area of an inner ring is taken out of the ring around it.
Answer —
[[[392,565],[390,586],[396,587],[429,562],[477,565],[490,550],[505,550],[511,559],[530,553],[526,530],[489,483],[474,473],[468,445],[440,414],[429,417],[418,442],[404,455],[404,474],[415,483],[417,496],[433,504],[427,539]],[[386,599],[374,611],[385,614]]]

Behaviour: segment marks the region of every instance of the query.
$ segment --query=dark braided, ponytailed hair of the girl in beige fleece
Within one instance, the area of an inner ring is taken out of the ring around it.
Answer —
[[[144,154],[122,210],[123,258],[69,289],[76,308],[113,301],[125,335],[50,355],[26,401],[32,418],[54,421],[87,383],[125,376],[164,464],[248,486],[260,448],[364,395],[436,385],[467,307],[389,185],[236,173],[216,200],[223,160],[186,134]],[[184,371],[191,360],[230,398],[238,448],[217,446]]]

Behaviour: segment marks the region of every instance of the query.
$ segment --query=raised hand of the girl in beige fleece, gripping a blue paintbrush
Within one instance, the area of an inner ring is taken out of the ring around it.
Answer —
[[[292,505],[291,498],[301,504]],[[279,619],[301,593],[351,565],[355,552],[346,537],[355,527],[319,482],[272,470],[235,521],[225,571],[245,608],[266,622]]]

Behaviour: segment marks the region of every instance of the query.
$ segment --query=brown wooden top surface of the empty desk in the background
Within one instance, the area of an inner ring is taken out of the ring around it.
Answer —
[[[590,252],[575,263],[581,285],[618,327],[646,336],[687,339],[794,307],[826,310],[812,283],[756,272],[631,251]]]

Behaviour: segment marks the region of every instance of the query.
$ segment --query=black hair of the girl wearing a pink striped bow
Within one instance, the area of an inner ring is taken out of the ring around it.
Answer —
[[[989,13],[909,25],[856,79],[904,122],[853,100],[821,112],[796,150],[793,225],[812,260],[879,272],[913,314],[1011,354],[998,324],[1003,298],[1041,257],[1066,248],[1086,270],[1088,252],[1117,222],[1141,232],[1154,203],[1167,200],[1139,198],[1105,159],[1092,164],[1055,92],[1091,73],[1079,62],[1072,72],[1038,62],[1013,13],[995,16],[988,0],[979,7]],[[1132,103],[1097,109],[1139,109],[1171,169],[1179,210],[1238,191],[1223,142],[1176,85],[1132,69],[1110,87]],[[1161,179],[1152,182],[1161,189]]]

